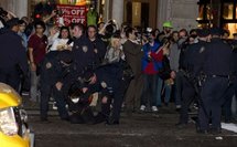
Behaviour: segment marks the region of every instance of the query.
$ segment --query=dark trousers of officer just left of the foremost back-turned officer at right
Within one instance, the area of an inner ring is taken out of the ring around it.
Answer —
[[[190,82],[187,78],[182,80],[183,91],[182,91],[182,107],[180,112],[180,123],[187,124],[188,120],[188,108],[192,102],[196,97],[196,91],[193,86],[194,83]]]

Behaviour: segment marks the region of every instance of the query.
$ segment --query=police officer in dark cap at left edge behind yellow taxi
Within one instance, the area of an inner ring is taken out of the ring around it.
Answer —
[[[28,73],[28,57],[21,38],[18,35],[19,19],[7,22],[7,30],[0,35],[0,82],[19,91],[20,75]]]

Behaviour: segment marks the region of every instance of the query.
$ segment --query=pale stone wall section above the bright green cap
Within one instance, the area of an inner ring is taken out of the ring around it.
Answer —
[[[172,21],[174,30],[197,28],[198,0],[159,0],[158,28],[164,21]]]

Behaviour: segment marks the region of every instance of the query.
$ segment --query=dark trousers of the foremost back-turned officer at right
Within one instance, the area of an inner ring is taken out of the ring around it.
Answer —
[[[212,119],[212,128],[220,128],[222,105],[227,88],[228,78],[226,77],[207,77],[205,81],[201,92],[203,105],[198,112],[201,129],[209,129],[209,119]]]

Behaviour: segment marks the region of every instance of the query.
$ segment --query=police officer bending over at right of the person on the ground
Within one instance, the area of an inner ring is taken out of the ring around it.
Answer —
[[[88,75],[88,73],[86,73]],[[97,116],[96,122],[106,120],[108,125],[119,124],[121,105],[123,102],[123,88],[122,88],[122,67],[121,63],[107,64],[98,67],[89,77],[90,91],[101,92],[101,112]],[[112,112],[110,115],[110,105],[112,103]]]

